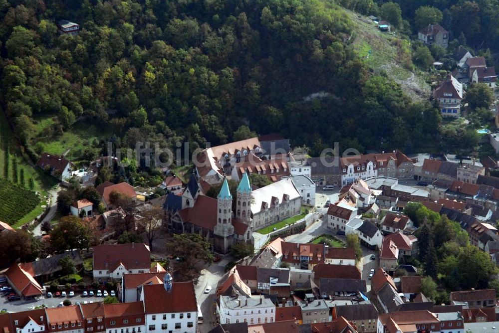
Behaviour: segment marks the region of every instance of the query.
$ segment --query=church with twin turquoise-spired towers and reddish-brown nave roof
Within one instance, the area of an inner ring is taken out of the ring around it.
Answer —
[[[235,243],[253,242],[251,186],[247,173],[243,175],[237,188],[237,213],[232,209],[233,196],[227,179],[224,179],[216,199],[204,195],[195,176],[189,180],[181,200],[179,196],[172,199],[178,200],[178,207],[171,217],[171,229],[174,233],[199,233],[212,242],[215,252],[224,254]],[[170,211],[173,208],[165,207]]]

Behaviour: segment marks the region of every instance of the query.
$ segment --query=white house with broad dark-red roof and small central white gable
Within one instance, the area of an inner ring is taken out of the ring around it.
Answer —
[[[93,248],[92,264],[94,280],[121,279],[125,274],[149,272],[151,251],[144,243],[102,244]]]

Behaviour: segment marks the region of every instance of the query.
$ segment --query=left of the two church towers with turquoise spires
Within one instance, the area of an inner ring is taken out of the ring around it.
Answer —
[[[229,189],[227,179],[224,179],[222,188],[217,197],[217,224],[213,230],[216,236],[220,236],[220,247],[224,253],[232,245],[232,236],[234,235],[234,226],[232,225],[232,195]]]

